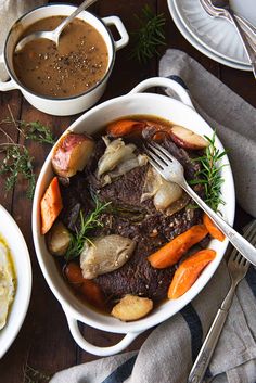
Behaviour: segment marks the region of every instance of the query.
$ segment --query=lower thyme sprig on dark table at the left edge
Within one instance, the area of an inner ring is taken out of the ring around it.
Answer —
[[[0,129],[3,131],[2,129]],[[28,182],[27,197],[33,199],[36,176],[33,168],[33,157],[28,150],[18,143],[15,143],[5,131],[3,133],[8,137],[9,142],[0,144],[0,152],[4,152],[5,156],[0,165],[0,175],[5,175],[5,190],[12,190],[21,176]]]

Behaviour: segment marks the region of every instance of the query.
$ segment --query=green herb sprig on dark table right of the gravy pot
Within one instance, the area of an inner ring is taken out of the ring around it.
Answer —
[[[159,54],[157,48],[165,44],[164,14],[156,15],[149,4],[142,8],[142,15],[135,17],[139,22],[139,29],[131,33],[135,48],[131,58],[140,63],[146,63],[154,54]]]

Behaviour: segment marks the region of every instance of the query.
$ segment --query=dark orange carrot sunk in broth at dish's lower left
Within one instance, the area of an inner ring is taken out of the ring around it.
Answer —
[[[65,276],[73,288],[79,292],[88,303],[98,308],[105,307],[104,295],[100,286],[94,281],[82,277],[82,272],[78,264],[71,261],[65,267]]]

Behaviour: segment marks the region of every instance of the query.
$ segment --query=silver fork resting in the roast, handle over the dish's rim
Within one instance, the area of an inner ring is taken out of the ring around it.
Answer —
[[[218,214],[216,214],[206,203],[190,188],[184,179],[183,166],[158,143],[149,143],[145,148],[150,164],[167,181],[178,183],[196,204],[213,219],[216,226],[229,239],[232,245],[252,264],[256,265],[256,248],[229,226]]]

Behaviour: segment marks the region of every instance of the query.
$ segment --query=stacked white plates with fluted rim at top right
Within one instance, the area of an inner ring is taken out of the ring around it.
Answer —
[[[210,59],[242,71],[252,71],[234,26],[213,18],[200,0],[167,0],[170,14],[184,38]],[[256,26],[255,0],[231,0],[234,12]]]

